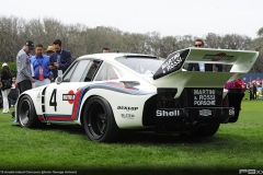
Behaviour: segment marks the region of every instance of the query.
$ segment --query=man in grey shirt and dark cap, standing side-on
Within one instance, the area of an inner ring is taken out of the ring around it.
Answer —
[[[20,93],[32,89],[32,83],[35,82],[32,78],[32,65],[30,60],[30,52],[33,49],[34,43],[32,40],[27,40],[16,56],[16,81]]]

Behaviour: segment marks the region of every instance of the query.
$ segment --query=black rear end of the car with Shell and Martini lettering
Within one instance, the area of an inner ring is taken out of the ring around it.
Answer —
[[[243,92],[229,91],[222,98],[222,89],[187,88],[174,98],[175,89],[158,89],[158,94],[145,103],[144,126],[236,122]]]

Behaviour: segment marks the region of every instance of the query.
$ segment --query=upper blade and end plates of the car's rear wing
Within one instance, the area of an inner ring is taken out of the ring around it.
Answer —
[[[258,59],[259,51],[195,48],[174,51],[168,56],[163,65],[157,70],[153,79],[159,79],[174,71],[183,69],[185,63],[216,63],[232,65],[229,72],[248,73]]]

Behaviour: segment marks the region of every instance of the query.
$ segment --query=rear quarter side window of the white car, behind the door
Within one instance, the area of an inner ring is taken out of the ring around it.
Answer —
[[[95,77],[95,81],[116,80],[121,77],[121,71],[110,63],[104,62]]]

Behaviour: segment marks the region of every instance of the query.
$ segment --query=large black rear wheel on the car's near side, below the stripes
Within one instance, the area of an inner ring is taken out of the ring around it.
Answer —
[[[118,138],[119,128],[106,100],[100,96],[92,97],[84,106],[83,117],[84,130],[90,140],[113,142]]]

